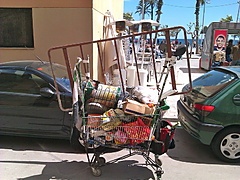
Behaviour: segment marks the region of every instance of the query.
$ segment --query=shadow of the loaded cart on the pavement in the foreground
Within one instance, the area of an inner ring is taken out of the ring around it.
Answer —
[[[1,161],[1,163],[4,163]],[[63,162],[24,162],[24,161],[5,161],[5,163],[28,163],[28,164],[40,164],[45,165],[41,174],[17,178],[18,180],[137,180],[141,177],[141,180],[154,179],[153,172],[147,167],[137,165],[135,160],[125,160],[118,163],[102,166],[100,169],[102,174],[100,177],[95,177],[91,173],[91,168],[88,163],[80,161],[63,161]]]

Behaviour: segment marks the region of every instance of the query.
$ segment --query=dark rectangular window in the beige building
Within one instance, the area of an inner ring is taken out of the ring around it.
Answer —
[[[0,47],[34,47],[31,8],[0,8]]]

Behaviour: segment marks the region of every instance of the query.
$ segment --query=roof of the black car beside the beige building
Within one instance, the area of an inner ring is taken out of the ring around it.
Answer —
[[[43,64],[49,64],[47,61],[36,60],[21,60],[21,61],[9,61],[0,63],[0,66],[18,66],[18,67],[32,67],[34,69],[42,66]]]

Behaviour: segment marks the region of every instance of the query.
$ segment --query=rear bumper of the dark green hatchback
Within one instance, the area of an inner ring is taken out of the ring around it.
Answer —
[[[178,119],[181,126],[193,137],[200,140],[203,144],[210,145],[217,132],[223,129],[222,125],[200,122],[194,118],[182,105],[180,100],[177,102]]]

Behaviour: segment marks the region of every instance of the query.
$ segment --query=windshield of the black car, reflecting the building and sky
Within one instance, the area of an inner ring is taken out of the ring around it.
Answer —
[[[33,63],[31,65],[31,67],[33,67],[39,71],[42,71],[51,77],[53,76],[50,63],[41,63],[41,64]],[[68,74],[67,74],[67,68],[63,65],[55,64],[55,63],[52,64],[52,68],[53,68],[53,72],[54,72],[57,82],[59,84],[61,84],[62,86],[66,87],[69,91],[71,91],[70,80],[69,80]]]

